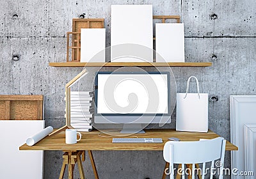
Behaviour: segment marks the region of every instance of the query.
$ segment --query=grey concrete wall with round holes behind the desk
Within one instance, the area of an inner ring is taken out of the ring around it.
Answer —
[[[82,68],[54,68],[48,64],[65,61],[66,33],[71,31],[72,18],[81,13],[86,18],[105,19],[110,45],[111,4],[153,4],[154,15],[181,15],[186,61],[212,61],[212,66],[173,68],[177,91],[185,90],[190,75],[198,77],[202,92],[218,96],[218,102],[209,103],[209,128],[230,140],[229,95],[255,95],[255,0],[1,0],[0,94],[42,94],[46,126],[64,125],[64,86]],[[218,19],[211,19],[213,13]],[[13,54],[19,54],[20,60],[13,61]],[[212,59],[212,54],[217,58]],[[175,127],[175,118],[165,127]],[[93,154],[100,178],[160,178],[164,167],[162,152]],[[225,166],[230,167],[230,152],[226,154]],[[61,155],[45,152],[44,178],[58,178]],[[86,178],[93,178],[88,160],[84,170]],[[79,178],[78,173],[75,178]]]

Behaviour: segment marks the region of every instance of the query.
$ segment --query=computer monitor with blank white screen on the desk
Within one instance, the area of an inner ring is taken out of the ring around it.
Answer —
[[[150,123],[170,123],[170,72],[98,72],[94,123],[124,124],[143,133]]]

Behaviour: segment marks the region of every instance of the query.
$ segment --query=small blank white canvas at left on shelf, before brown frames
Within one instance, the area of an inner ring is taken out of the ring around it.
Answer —
[[[81,29],[81,62],[105,62],[105,48],[106,29]]]

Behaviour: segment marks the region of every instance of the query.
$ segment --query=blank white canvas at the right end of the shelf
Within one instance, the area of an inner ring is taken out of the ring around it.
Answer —
[[[184,24],[156,23],[156,61],[185,62]]]

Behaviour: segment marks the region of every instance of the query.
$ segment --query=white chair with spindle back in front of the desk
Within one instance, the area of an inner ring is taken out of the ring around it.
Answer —
[[[223,171],[225,146],[226,140],[222,137],[200,141],[168,141],[164,144],[163,156],[164,160],[170,163],[170,178],[174,178],[173,164],[181,164],[182,179],[185,178],[185,164],[192,164],[191,173],[192,178],[195,179],[195,164],[202,163],[202,179],[205,178],[207,172],[211,173],[212,179],[211,170],[205,172],[205,163],[211,162],[211,168],[214,168],[214,161],[220,161],[218,163],[220,165],[217,167],[220,167],[220,171]],[[220,172],[219,178],[223,178],[223,172]]]

